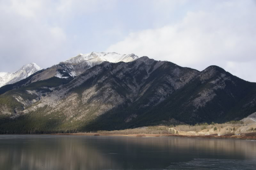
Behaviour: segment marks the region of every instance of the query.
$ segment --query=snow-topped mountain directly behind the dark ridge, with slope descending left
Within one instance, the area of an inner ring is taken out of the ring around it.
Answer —
[[[23,86],[27,86],[31,83],[37,81],[47,80],[56,80],[55,78],[60,78],[63,80],[62,83],[67,83],[73,80],[75,77],[82,74],[85,70],[101,64],[102,62],[130,62],[138,59],[139,57],[135,54],[118,54],[118,53],[105,53],[105,52],[91,52],[88,54],[79,54],[75,57],[70,58],[69,60],[60,62],[52,67],[47,69],[42,69],[37,74],[31,75],[29,78],[24,79],[23,81],[9,84],[0,88],[0,95],[4,92],[12,89],[17,89]]]

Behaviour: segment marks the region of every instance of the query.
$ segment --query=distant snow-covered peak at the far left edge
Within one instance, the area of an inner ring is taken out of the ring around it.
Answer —
[[[41,68],[37,64],[30,63],[15,72],[0,72],[0,87],[23,80],[39,70]]]

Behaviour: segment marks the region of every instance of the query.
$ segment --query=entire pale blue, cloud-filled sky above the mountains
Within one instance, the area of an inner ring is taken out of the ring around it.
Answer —
[[[256,82],[256,0],[0,0],[0,71],[93,51]]]

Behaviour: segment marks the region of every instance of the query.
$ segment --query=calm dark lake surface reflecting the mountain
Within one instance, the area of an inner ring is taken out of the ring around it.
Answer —
[[[256,169],[256,141],[0,135],[1,170]]]

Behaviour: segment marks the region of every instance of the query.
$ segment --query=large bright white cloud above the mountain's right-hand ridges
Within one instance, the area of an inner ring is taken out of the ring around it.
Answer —
[[[201,5],[188,11],[175,24],[131,32],[106,51],[147,55],[199,70],[218,65],[256,82],[255,75],[247,76],[256,72],[256,6],[253,1],[217,2],[211,10]]]

